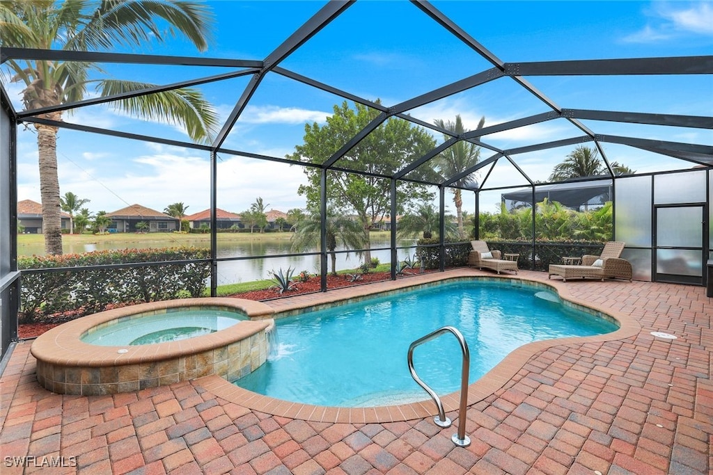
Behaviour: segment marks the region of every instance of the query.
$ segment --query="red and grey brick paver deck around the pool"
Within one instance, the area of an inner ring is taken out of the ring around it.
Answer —
[[[0,472],[711,473],[713,299],[705,289],[576,280],[557,286],[631,315],[642,330],[530,357],[500,390],[468,408],[470,447],[451,442],[456,412],[448,413],[448,429],[431,418],[309,422],[222,400],[200,380],[118,395],[55,395],[36,382],[30,343],[21,342],[0,379]]]

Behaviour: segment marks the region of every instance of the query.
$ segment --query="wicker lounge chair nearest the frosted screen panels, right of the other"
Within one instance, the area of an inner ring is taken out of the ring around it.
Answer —
[[[560,264],[550,264],[550,275],[561,276],[563,282],[568,278],[625,278],[631,282],[631,263],[619,256],[624,250],[624,243],[620,241],[609,241],[604,245],[601,256],[582,256],[581,266],[567,266]]]

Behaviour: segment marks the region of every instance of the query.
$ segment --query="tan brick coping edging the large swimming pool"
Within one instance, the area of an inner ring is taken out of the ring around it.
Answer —
[[[519,283],[527,283],[528,285],[550,288],[555,290],[563,301],[567,301],[575,307],[583,306],[602,315],[609,315],[620,325],[617,330],[604,335],[542,340],[516,348],[511,353],[508,353],[508,355],[503,358],[498,365],[488,371],[486,375],[483,375],[479,380],[468,386],[468,405],[480,402],[497,390],[500,390],[501,387],[506,385],[506,383],[523,368],[530,358],[543,350],[560,345],[584,345],[586,343],[605,343],[613,340],[622,340],[637,335],[641,330],[641,325],[629,315],[611,309],[605,310],[596,304],[574,298],[568,291],[566,284],[561,281],[539,281],[524,276],[485,273],[470,268],[459,268],[446,271],[445,273],[422,274],[397,281],[379,283],[381,285],[369,284],[369,286],[338,289],[327,293],[310,294],[309,296],[284,298],[279,301],[268,301],[265,302],[265,304],[270,306],[276,314],[297,312],[319,308],[319,306],[337,301],[345,301],[348,303],[349,301],[359,300],[364,297],[373,297],[379,293],[388,293],[402,288],[419,286],[421,284],[460,280],[461,278],[476,278],[476,280],[480,281],[518,281]],[[401,422],[411,419],[422,419],[438,414],[436,405],[429,399],[411,402],[409,404],[379,407],[326,407],[277,400],[269,396],[245,390],[215,375],[200,378],[198,384],[202,385],[202,387],[217,397],[221,397],[228,402],[234,402],[242,407],[275,416],[312,422],[347,422],[352,424]],[[442,396],[441,402],[446,412],[457,410],[459,399],[459,391]]]

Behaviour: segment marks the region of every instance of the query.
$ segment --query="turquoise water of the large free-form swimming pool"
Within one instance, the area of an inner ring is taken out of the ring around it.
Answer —
[[[306,404],[401,404],[429,399],[411,378],[406,357],[411,342],[444,325],[458,328],[466,338],[471,383],[525,343],[618,328],[566,308],[553,294],[543,298],[542,292],[529,286],[451,282],[278,319],[277,352],[235,384]],[[460,389],[461,349],[453,335],[416,348],[414,366],[439,395]]]

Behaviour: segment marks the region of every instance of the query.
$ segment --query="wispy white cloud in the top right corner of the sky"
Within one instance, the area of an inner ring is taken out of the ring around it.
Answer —
[[[625,43],[656,43],[689,34],[713,36],[713,4],[699,1],[682,6],[655,2],[647,11],[650,23],[622,38]]]

